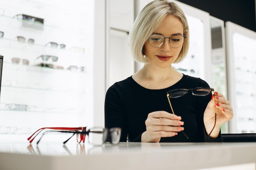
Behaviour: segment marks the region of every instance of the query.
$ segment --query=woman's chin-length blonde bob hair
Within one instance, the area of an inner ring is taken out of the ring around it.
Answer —
[[[130,49],[135,61],[142,63],[149,62],[147,57],[144,57],[144,44],[149,36],[157,30],[167,15],[173,15],[182,22],[183,33],[186,35],[180,54],[174,63],[179,63],[186,57],[189,50],[189,25],[186,16],[175,2],[154,0],[141,10],[129,34]]]

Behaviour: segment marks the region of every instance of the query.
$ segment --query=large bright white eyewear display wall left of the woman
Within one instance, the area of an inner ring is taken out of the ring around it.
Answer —
[[[92,124],[94,1],[59,2],[0,0],[1,134]]]

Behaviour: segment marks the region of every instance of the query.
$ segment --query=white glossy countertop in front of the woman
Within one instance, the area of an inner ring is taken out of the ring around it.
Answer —
[[[198,170],[241,164],[255,170],[255,162],[256,142],[130,142],[117,146],[0,142],[0,170]]]

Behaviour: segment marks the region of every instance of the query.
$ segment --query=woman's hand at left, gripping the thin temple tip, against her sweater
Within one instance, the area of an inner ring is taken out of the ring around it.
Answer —
[[[173,137],[183,131],[181,117],[167,111],[154,111],[145,121],[146,131],[141,135],[141,142],[159,142],[161,137]]]

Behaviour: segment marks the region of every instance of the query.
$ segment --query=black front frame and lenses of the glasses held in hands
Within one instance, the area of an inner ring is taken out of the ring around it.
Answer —
[[[188,94],[188,92],[192,92],[192,95],[194,96],[207,96],[211,92],[214,92],[214,89],[209,87],[196,87],[194,89],[174,89],[167,92],[167,95],[169,98],[178,98]]]

